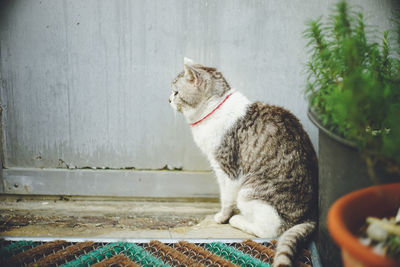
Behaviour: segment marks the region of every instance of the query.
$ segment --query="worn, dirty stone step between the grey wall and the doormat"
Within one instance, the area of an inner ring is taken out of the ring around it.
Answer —
[[[251,238],[216,224],[217,200],[0,196],[0,236]]]

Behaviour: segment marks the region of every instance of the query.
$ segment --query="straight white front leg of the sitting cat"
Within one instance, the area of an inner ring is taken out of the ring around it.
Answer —
[[[221,211],[215,214],[214,220],[217,223],[227,223],[234,213],[239,183],[222,171],[216,172],[216,175],[220,190]]]

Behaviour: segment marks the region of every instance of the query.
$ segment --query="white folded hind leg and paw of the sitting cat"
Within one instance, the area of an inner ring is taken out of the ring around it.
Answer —
[[[280,234],[282,219],[274,207],[265,201],[248,199],[248,189],[241,189],[237,207],[240,214],[230,218],[229,224],[261,238],[273,238]]]

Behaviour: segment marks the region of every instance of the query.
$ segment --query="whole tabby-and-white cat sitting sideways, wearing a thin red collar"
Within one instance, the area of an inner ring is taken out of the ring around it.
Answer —
[[[217,177],[215,221],[261,238],[280,235],[273,266],[292,266],[317,221],[317,157],[299,120],[284,108],[251,103],[217,69],[187,58],[171,86],[170,105],[186,118]]]

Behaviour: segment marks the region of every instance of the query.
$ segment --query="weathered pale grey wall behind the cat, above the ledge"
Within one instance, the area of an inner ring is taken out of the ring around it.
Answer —
[[[207,169],[167,102],[184,56],[290,109],[317,144],[302,32],[335,2],[2,0],[5,166]],[[394,2],[351,1],[380,29]]]

